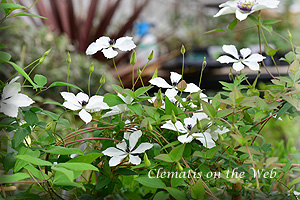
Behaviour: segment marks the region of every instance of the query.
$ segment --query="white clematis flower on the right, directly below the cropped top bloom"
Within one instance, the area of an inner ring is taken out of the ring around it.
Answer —
[[[248,66],[251,70],[259,70],[258,62],[261,62],[266,57],[255,53],[251,54],[251,50],[249,48],[244,48],[240,50],[240,55],[234,45],[223,45],[223,51],[233,56],[220,56],[217,61],[220,63],[233,63],[232,67],[236,71],[241,71],[244,69],[244,66]]]

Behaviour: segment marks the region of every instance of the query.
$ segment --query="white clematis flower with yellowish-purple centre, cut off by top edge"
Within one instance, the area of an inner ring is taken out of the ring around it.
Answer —
[[[278,4],[277,0],[231,0],[220,4],[221,10],[214,17],[235,13],[236,18],[242,21],[258,10],[277,8]]]

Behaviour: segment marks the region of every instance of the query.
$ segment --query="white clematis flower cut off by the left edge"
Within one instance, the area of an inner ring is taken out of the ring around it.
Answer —
[[[21,91],[20,83],[16,80],[19,77],[12,79],[9,84],[3,88],[3,93],[0,96],[0,112],[3,112],[9,117],[18,116],[18,108],[30,106],[34,103],[27,95],[19,93]]]

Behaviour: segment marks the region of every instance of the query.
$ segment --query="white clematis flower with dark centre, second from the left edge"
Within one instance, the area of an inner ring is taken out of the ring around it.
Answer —
[[[79,92],[76,96],[71,92],[61,92],[61,96],[66,100],[63,106],[70,110],[80,110],[79,117],[85,122],[92,121],[90,113],[103,109],[109,109],[109,106],[103,102],[103,97],[94,95],[91,98],[83,92]]]

